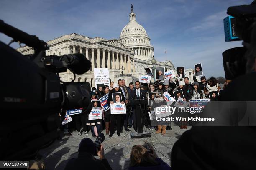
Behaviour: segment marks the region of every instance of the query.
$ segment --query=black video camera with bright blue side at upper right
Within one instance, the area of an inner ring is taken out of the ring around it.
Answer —
[[[227,80],[246,74],[245,54],[251,47],[253,30],[256,27],[256,0],[250,5],[229,7],[224,18],[225,41],[243,40],[243,47],[231,48],[223,52],[223,66]],[[256,34],[254,33],[254,36]]]

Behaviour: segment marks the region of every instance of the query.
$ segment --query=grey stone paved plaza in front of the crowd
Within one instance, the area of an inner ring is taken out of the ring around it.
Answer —
[[[188,129],[190,128],[188,127]],[[179,126],[172,126],[172,130],[167,130],[165,135],[155,134],[156,130],[151,131],[146,128],[144,130],[151,132],[151,138],[131,139],[131,132],[126,131],[123,131],[120,137],[116,133],[111,138],[108,135],[106,136],[103,142],[105,157],[108,159],[113,170],[127,170],[132,146],[137,144],[143,145],[145,143],[153,143],[156,148],[155,150],[157,150],[156,154],[166,163],[171,164],[171,160],[169,159],[171,158],[170,148],[172,148],[185,130],[180,129]],[[105,134],[105,130],[102,133]],[[78,136],[77,131],[74,131],[72,134],[72,136],[64,136],[62,140],[56,140],[48,148],[40,150],[39,153],[43,156],[48,170],[63,170],[69,158],[77,157],[78,146],[83,138],[91,138],[93,141],[96,139],[92,137],[91,133],[87,136],[84,133],[82,136]]]

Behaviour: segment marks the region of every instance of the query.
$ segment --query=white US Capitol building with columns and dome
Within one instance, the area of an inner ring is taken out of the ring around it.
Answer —
[[[87,81],[94,87],[94,68],[108,68],[111,81],[117,82],[121,78],[126,80],[126,85],[129,82],[135,82],[140,75],[146,75],[144,68],[152,68],[154,47],[150,43],[146,30],[136,21],[133,7],[129,19],[119,39],[90,38],[72,33],[48,41],[50,48],[46,50],[46,55],[84,54],[92,62],[92,67],[87,73],[76,75],[75,82]],[[28,46],[18,48],[17,51],[23,55],[34,52],[33,48]],[[156,61],[155,67],[164,67],[165,71],[174,69],[174,65],[169,60]],[[59,75],[64,82],[70,82],[74,77],[69,70]],[[185,70],[185,75],[189,77],[189,81],[193,81],[193,70]],[[151,82],[154,81],[152,79]]]

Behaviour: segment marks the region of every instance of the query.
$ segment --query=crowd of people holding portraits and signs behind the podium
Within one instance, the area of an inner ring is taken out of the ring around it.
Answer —
[[[166,130],[172,130],[170,125],[157,125],[152,126],[151,120],[149,118],[148,112],[154,111],[153,108],[159,107],[161,105],[166,105],[164,99],[164,92],[168,92],[169,95],[174,97],[174,91],[181,90],[177,94],[177,97],[182,97],[183,100],[189,101],[193,99],[207,99],[218,100],[220,96],[220,87],[218,86],[218,80],[211,77],[209,80],[206,80],[205,76],[200,77],[200,81],[197,80],[197,77],[193,77],[194,82],[189,83],[189,78],[185,77],[184,79],[172,79],[164,81],[156,81],[154,83],[140,83],[136,81],[135,83],[130,82],[126,86],[124,79],[119,79],[117,82],[110,82],[110,86],[104,85],[102,87],[92,87],[90,92],[92,102],[88,107],[82,109],[81,114],[72,115],[72,120],[74,120],[77,128],[78,135],[82,135],[81,129],[83,130],[84,135],[89,135],[91,130],[92,136],[97,137],[101,130],[105,129],[106,135],[112,137],[115,131],[117,135],[120,136],[120,133],[125,131],[131,131],[130,128],[133,126],[133,129],[137,132],[140,129],[137,126],[145,126],[151,130],[156,129],[156,134],[161,133],[161,135],[166,134]],[[228,82],[225,83],[225,86]],[[149,93],[152,92],[154,95],[149,96]],[[119,93],[116,95],[115,99],[112,98],[112,93]],[[183,93],[183,94],[181,94]],[[107,104],[110,107],[114,102],[119,101],[121,104],[125,104],[126,114],[111,114],[110,109],[105,111],[103,110],[102,120],[89,120],[88,115],[90,114],[92,108],[101,108],[95,100],[99,100],[101,97],[108,94]],[[175,97],[174,97],[175,98]],[[143,102],[131,105],[132,99],[147,99],[149,102]],[[136,113],[136,114],[133,114]],[[142,120],[138,115],[143,114]],[[140,121],[137,121],[137,120]],[[182,122],[180,125],[181,129],[187,129],[187,122]],[[64,125],[65,135],[71,135],[68,132],[68,125]]]

